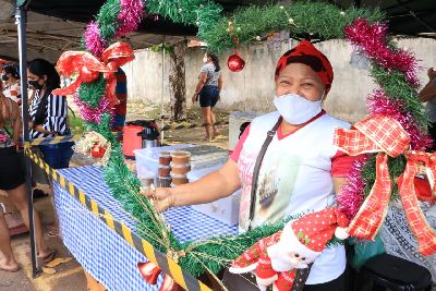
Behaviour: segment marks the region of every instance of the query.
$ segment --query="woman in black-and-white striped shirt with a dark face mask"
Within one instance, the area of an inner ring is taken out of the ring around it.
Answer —
[[[60,87],[60,77],[55,66],[43,59],[35,59],[27,66],[28,84],[34,87],[35,97],[29,108],[31,138],[69,135],[68,106],[65,96],[51,92]],[[53,169],[68,168],[73,143],[40,145],[46,162]]]

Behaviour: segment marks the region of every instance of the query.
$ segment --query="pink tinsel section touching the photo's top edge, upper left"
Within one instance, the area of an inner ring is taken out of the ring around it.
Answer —
[[[120,24],[116,37],[122,37],[137,29],[143,16],[142,0],[121,0],[121,12],[118,15]]]

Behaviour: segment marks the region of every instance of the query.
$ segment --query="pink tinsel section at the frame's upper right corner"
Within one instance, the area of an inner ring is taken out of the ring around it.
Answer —
[[[402,72],[412,86],[419,87],[415,58],[409,51],[388,47],[386,44],[387,31],[386,24],[370,25],[368,21],[364,19],[358,19],[352,25],[344,28],[347,38],[364,51],[367,58],[386,70],[396,69]]]

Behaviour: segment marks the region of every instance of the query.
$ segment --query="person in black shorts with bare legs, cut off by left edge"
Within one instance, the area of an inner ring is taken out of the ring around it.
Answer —
[[[1,81],[0,88],[2,88]],[[24,223],[29,228],[25,174],[20,167],[16,153],[21,125],[22,120],[17,105],[0,92],[0,190],[8,193],[8,197],[20,210]],[[43,227],[37,211],[34,211],[34,223],[38,258],[48,263],[53,259],[56,251],[50,250],[44,240]],[[0,270],[13,272],[20,269],[12,252],[9,228],[1,207],[0,255]]]

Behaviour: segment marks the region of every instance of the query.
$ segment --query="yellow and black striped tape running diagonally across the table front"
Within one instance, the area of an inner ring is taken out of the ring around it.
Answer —
[[[68,181],[57,170],[50,168],[41,158],[37,157],[29,148],[26,148],[26,155],[43,170],[47,172],[55,181],[57,181],[64,190],[73,195],[80,203],[88,210],[95,214],[102,220],[109,228],[114,230],[121,235],[129,244],[135,247],[138,252],[145,255],[150,262],[156,264],[164,272],[170,275],[174,281],[183,289],[189,291],[211,291],[203,282],[198,281],[185,270],[183,270],[172,258],[167,257],[157,251],[150,243],[140,238],[136,233],[132,232],[124,223],[117,221],[112,215],[97,205],[86,194],[77,189],[73,183]]]

